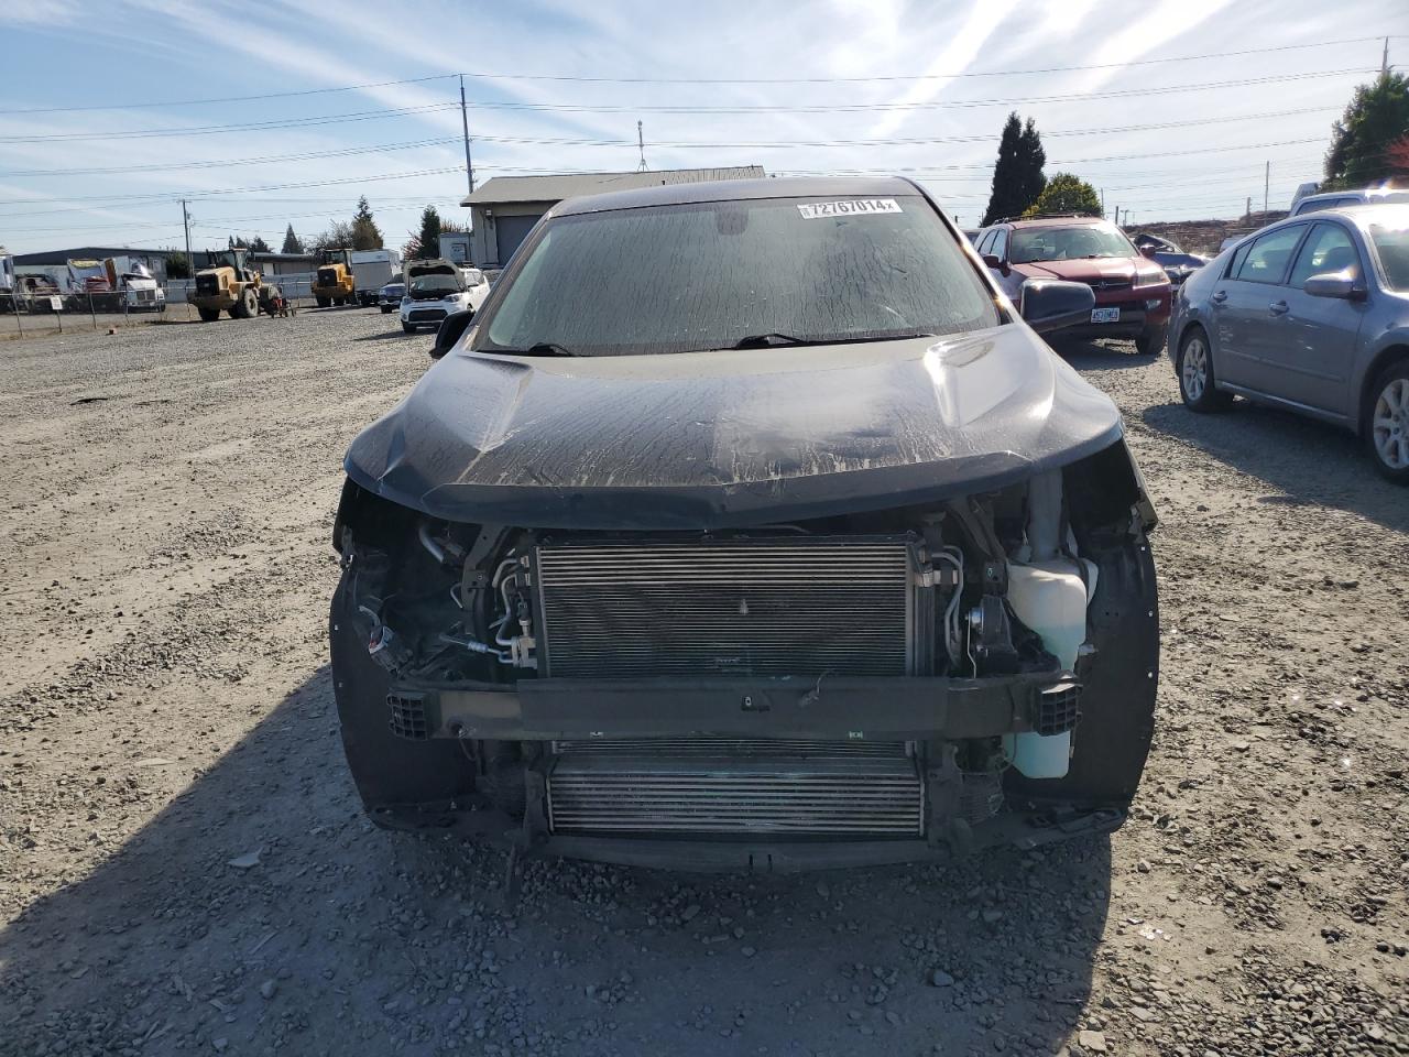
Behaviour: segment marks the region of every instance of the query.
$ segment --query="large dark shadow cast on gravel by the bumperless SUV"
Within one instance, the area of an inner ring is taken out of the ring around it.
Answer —
[[[159,767],[193,761],[107,781]],[[513,916],[503,867],[366,822],[324,668],[0,933],[0,1051],[1053,1053],[1110,889],[1106,837],[790,877],[530,861]]]

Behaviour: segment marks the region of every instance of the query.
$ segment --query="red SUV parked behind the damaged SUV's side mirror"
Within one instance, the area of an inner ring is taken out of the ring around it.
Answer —
[[[1115,224],[1099,217],[1003,220],[975,248],[1003,292],[1022,302],[1029,279],[1086,283],[1096,295],[1091,321],[1060,331],[1078,338],[1134,338],[1148,355],[1169,330],[1169,278]]]

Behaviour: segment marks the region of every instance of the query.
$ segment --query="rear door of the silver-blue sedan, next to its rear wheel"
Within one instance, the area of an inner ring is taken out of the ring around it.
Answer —
[[[1281,283],[1309,227],[1289,224],[1254,238],[1233,255],[1223,279],[1215,283],[1209,317],[1215,330],[1215,368],[1222,381],[1261,389],[1261,365],[1277,340],[1270,331],[1285,311],[1274,306],[1284,300]]]

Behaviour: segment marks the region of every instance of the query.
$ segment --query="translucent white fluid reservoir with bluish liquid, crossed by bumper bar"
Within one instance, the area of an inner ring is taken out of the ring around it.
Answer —
[[[1076,667],[1076,651],[1086,641],[1086,582],[1076,562],[1050,558],[1007,567],[1007,603],[1017,619],[1043,638],[1065,671]],[[1027,778],[1061,778],[1071,761],[1071,731],[1009,734],[1009,757]]]

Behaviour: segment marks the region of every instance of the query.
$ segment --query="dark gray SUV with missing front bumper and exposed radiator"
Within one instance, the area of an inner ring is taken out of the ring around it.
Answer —
[[[1119,826],[1155,517],[1038,337],[1092,302],[1014,307],[899,179],[554,207],[347,455],[333,675],[372,817],[772,871]]]

